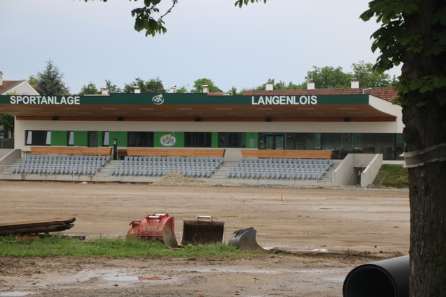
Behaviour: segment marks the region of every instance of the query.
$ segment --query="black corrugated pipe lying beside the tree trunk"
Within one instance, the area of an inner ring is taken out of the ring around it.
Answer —
[[[344,297],[409,296],[409,256],[357,266],[348,273]]]

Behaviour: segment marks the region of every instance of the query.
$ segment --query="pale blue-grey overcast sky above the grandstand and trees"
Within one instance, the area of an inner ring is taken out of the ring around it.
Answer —
[[[297,84],[313,66],[351,72],[352,63],[376,61],[370,36],[379,24],[359,18],[368,2],[268,0],[240,9],[235,0],[179,0],[164,18],[167,33],[153,38],[133,28],[131,10],[142,0],[0,0],[0,71],[4,80],[28,79],[51,60],[70,93],[106,79],[123,88],[159,77],[166,89],[190,90],[206,77],[224,91],[268,79]]]

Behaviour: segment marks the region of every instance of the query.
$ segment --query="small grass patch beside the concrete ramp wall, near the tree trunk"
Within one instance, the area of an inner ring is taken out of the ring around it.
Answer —
[[[408,188],[409,175],[402,165],[384,164],[374,180],[375,186],[390,186],[392,188]]]

